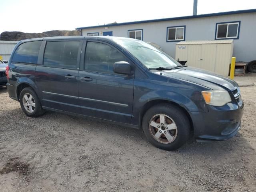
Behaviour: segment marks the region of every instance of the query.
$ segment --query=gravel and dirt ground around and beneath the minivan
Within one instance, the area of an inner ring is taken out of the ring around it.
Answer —
[[[241,92],[237,136],[190,138],[169,152],[149,144],[141,130],[56,112],[29,118],[0,88],[0,192],[255,192],[256,86]]]

